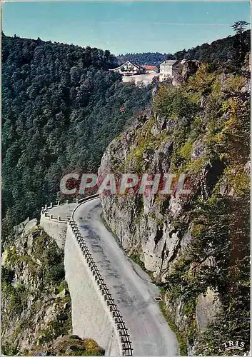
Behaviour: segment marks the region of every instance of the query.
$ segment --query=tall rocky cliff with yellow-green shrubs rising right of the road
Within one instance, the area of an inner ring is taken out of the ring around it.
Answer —
[[[128,191],[103,195],[101,203],[122,246],[163,286],[166,311],[186,339],[187,353],[196,353],[190,346],[209,323],[223,321],[221,307],[236,298],[224,298],[236,280],[229,274],[234,266],[242,270],[248,257],[248,236],[238,230],[246,230],[248,221],[241,212],[232,221],[234,207],[248,207],[248,91],[246,78],[208,66],[180,88],[160,86],[152,111],[111,142],[99,169],[101,176],[147,173],[150,179],[186,174],[187,196],[178,196],[175,184],[169,196]],[[223,336],[236,336],[228,328]],[[208,347],[201,343],[204,352],[223,353],[213,341]]]

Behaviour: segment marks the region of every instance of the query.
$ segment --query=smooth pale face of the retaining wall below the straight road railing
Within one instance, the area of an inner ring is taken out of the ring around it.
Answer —
[[[106,356],[120,356],[120,344],[113,321],[69,224],[66,233],[64,266],[71,295],[73,334],[93,338]]]

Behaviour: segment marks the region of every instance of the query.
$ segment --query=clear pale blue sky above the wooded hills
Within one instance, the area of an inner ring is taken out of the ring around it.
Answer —
[[[233,34],[249,1],[6,2],[4,34],[126,52],[175,52]]]

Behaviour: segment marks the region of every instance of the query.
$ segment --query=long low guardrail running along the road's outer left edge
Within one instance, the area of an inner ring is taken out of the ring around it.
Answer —
[[[98,197],[99,194],[95,194],[89,197],[82,198],[80,201],[81,203],[85,203]],[[79,206],[77,206],[76,208],[78,207]],[[76,211],[76,208],[74,208],[74,211],[72,212],[71,221],[69,221],[69,225],[71,226],[71,230],[73,231],[74,236],[76,237],[76,241],[79,244],[82,253],[84,254],[86,262],[89,264],[89,268],[93,273],[96,284],[99,287],[99,290],[101,291],[101,295],[104,297],[104,301],[106,301],[106,304],[109,307],[109,312],[111,313],[111,316],[114,319],[114,324],[119,334],[122,355],[133,356],[133,348],[131,346],[128,329],[126,328],[120,311],[117,308],[116,303],[114,302],[114,298],[112,298],[111,293],[109,292],[109,288],[107,288],[106,283],[104,282],[104,279],[102,278],[101,273],[99,272],[99,269],[97,268],[96,263],[94,262],[94,259],[91,256],[89,248],[86,245],[86,242],[84,241],[84,237],[81,236],[81,232],[79,231],[79,228],[76,225],[76,222],[74,221],[74,212]]]

